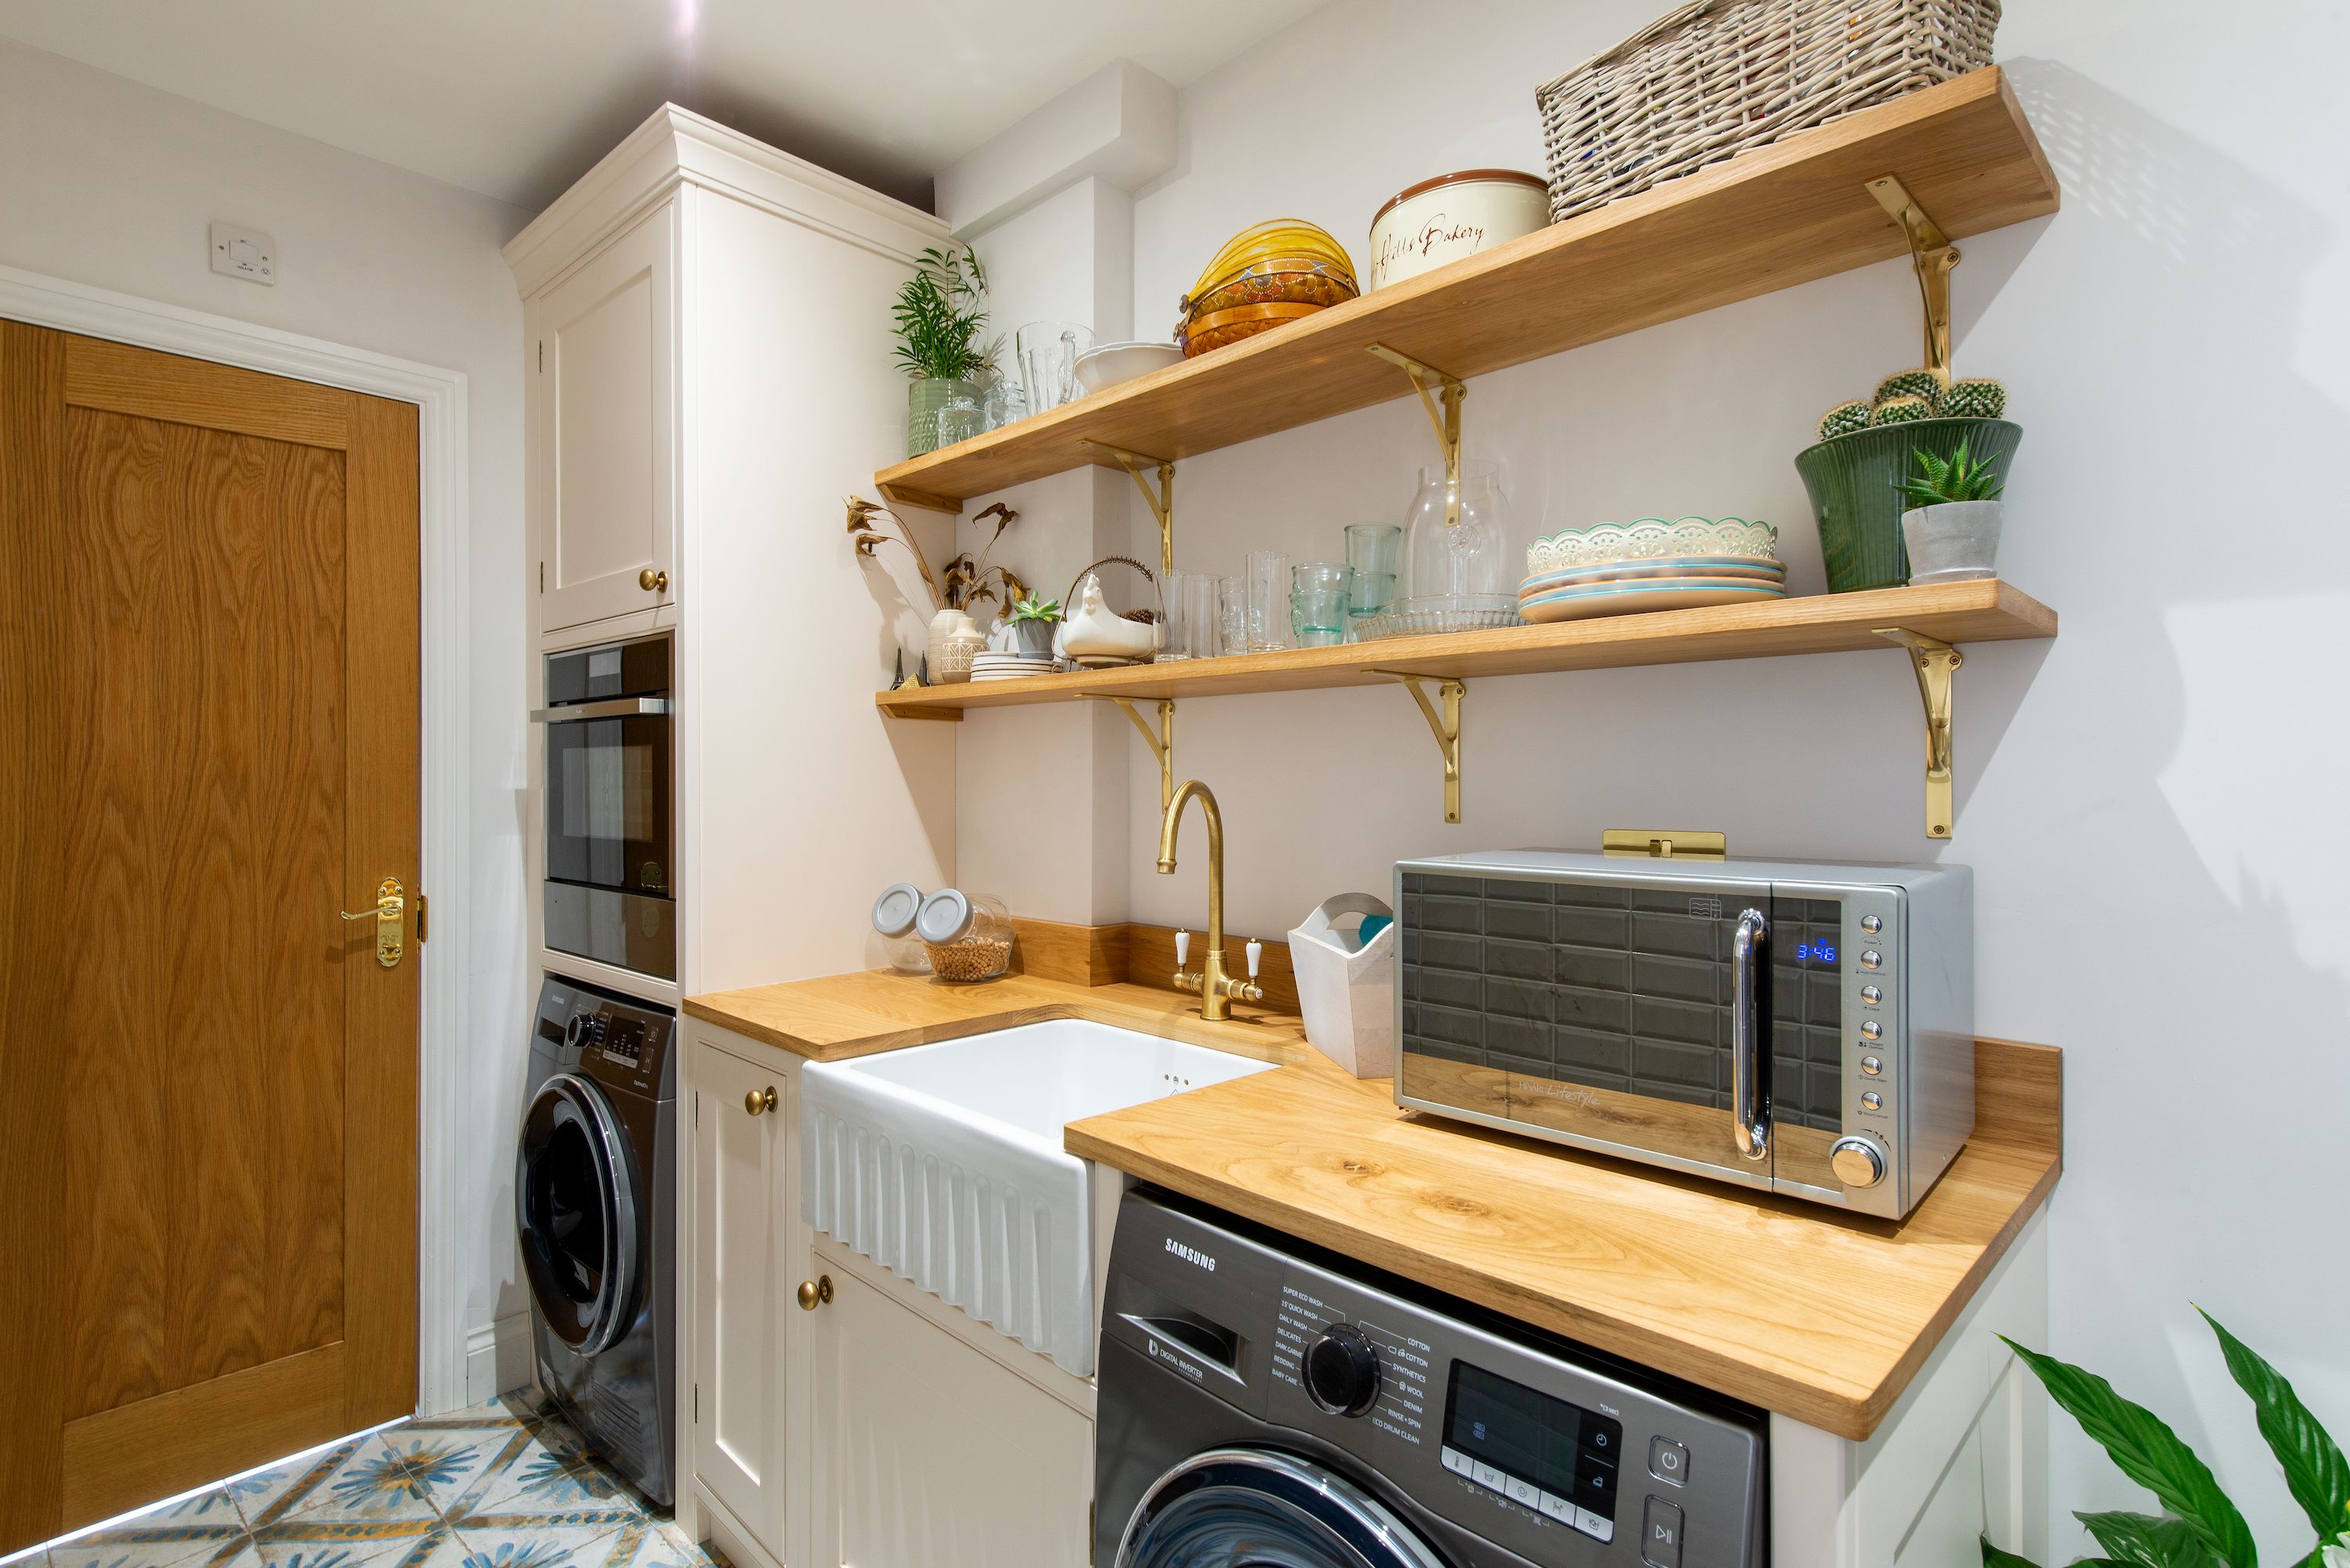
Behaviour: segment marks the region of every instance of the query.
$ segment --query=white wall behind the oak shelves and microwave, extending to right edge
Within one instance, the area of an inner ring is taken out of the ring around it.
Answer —
[[[1535,87],[1659,9],[1342,0],[1250,49],[1184,89],[1180,165],[1137,197],[1135,327],[1159,334],[1217,244],[1260,219],[1314,219],[1361,261],[1372,212],[1405,183],[1539,172]],[[1962,244],[1958,367],[2014,393],[2005,574],[2061,611],[2063,635],[1967,649],[1953,844],[1922,837],[1918,698],[1892,649],[1471,682],[1459,827],[1403,691],[1177,715],[1177,776],[1224,804],[1241,933],[1379,891],[1398,856],[1591,846],[1614,825],[1974,865],[1981,1030],[2068,1051],[2054,1349],[2169,1413],[2270,1554],[2303,1549],[2305,1526],[2188,1302],[2350,1432],[2350,757],[2331,675],[2350,590],[2329,571],[2329,470],[2350,449],[2345,42],[2326,0],[2223,21],[2183,0],[2007,12],[2000,56],[2066,209]],[[1791,456],[1824,407],[1913,364],[1915,343],[1906,263],[1831,277],[1478,378],[1469,456],[1502,463],[1525,538],[1767,517],[1795,592],[1817,592]],[[1419,409],[1396,402],[1187,461],[1177,567],[1238,571],[1260,545],[1330,557],[1342,524],[1401,522],[1434,458]],[[1003,717],[964,724],[966,788],[985,785],[973,738]],[[1154,785],[1130,769],[1130,912],[1198,924],[1201,860],[1152,875]],[[1046,856],[1062,835],[1041,811],[966,820],[964,858],[982,842]],[[2087,1549],[2068,1509],[2148,1500],[2056,1429],[2056,1540]]]

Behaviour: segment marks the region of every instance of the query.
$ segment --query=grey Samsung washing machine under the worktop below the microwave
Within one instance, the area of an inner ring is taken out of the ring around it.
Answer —
[[[1109,1568],[1760,1568],[1765,1415],[1187,1199],[1119,1208]]]

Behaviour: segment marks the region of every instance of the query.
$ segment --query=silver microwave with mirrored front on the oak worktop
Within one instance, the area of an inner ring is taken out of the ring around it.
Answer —
[[[1901,1218],[1974,1131],[1965,865],[1396,865],[1396,1105]]]

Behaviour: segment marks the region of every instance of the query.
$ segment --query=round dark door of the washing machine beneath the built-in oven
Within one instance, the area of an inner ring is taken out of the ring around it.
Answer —
[[[637,1298],[637,1171],[611,1100],[573,1072],[522,1117],[515,1211],[538,1314],[583,1356],[606,1349]]]

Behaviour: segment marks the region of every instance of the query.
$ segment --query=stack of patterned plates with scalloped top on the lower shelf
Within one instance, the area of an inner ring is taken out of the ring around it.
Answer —
[[[1786,597],[1779,529],[1741,517],[1643,517],[1567,529],[1525,548],[1528,621],[1631,616]]]

